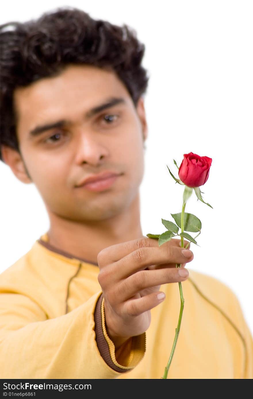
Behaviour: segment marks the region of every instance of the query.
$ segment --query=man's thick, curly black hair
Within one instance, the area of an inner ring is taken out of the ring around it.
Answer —
[[[113,70],[126,86],[133,104],[147,89],[141,66],[145,45],[136,31],[94,20],[73,7],[46,12],[37,20],[0,25],[1,143],[19,151],[13,92],[43,77],[56,76],[68,64],[89,64]],[[0,151],[0,159],[2,159]]]

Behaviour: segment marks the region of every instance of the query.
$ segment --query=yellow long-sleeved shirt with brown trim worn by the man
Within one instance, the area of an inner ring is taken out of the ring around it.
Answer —
[[[147,332],[115,354],[106,334],[98,265],[46,247],[47,241],[42,235],[0,275],[0,378],[161,378],[179,317],[178,283],[161,286],[166,298],[151,309]],[[188,270],[168,378],[251,379],[253,339],[237,297],[219,280]]]

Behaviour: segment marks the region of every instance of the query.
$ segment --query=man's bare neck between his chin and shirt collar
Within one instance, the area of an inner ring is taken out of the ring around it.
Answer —
[[[48,210],[48,242],[77,258],[97,263],[102,249],[143,237],[140,225],[139,193],[119,215],[92,225],[62,219]]]

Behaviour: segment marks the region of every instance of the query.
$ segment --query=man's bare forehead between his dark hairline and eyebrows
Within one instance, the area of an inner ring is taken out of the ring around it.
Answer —
[[[108,97],[122,97],[131,104],[129,93],[117,75],[96,67],[69,66],[60,75],[43,78],[14,91],[17,119],[62,117],[63,110],[88,112]],[[74,107],[74,108],[73,108]],[[38,114],[38,115],[37,115]]]

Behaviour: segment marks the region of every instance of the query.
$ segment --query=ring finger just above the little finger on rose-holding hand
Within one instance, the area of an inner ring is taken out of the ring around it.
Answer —
[[[187,276],[181,276],[179,271],[186,271]],[[185,281],[188,277],[189,271],[187,269],[182,270],[181,268],[142,270],[127,277],[126,280],[114,287],[113,300],[116,300],[118,303],[124,302],[145,288],[162,285],[169,282]]]

